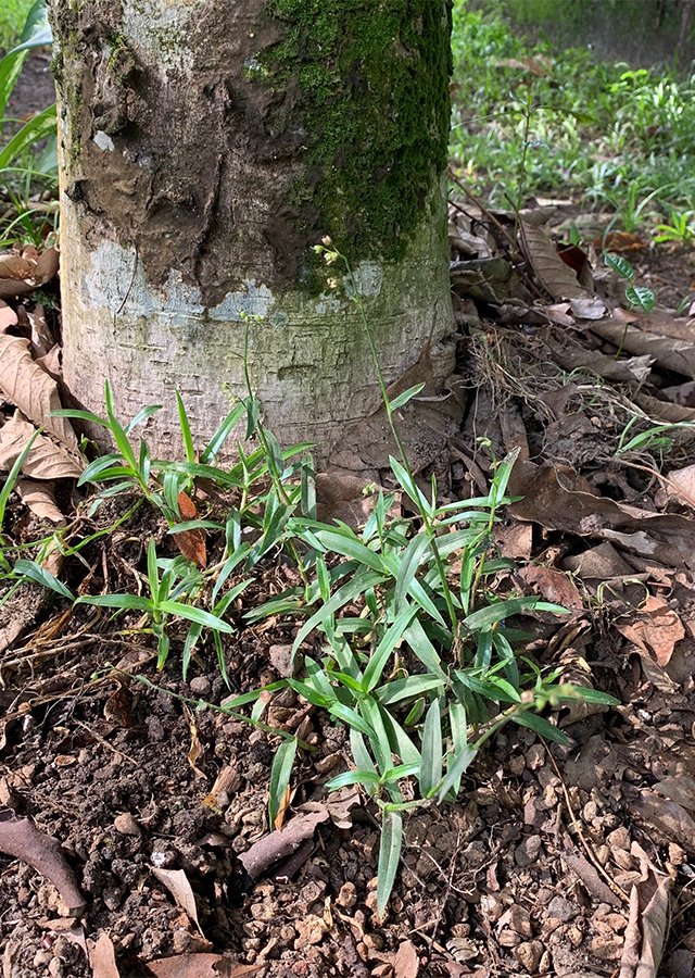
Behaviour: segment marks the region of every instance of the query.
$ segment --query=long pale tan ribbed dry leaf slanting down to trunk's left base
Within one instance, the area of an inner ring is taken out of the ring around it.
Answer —
[[[49,417],[62,408],[58,385],[31,360],[29,341],[21,336],[0,335],[0,390],[37,427],[43,428],[67,448],[77,448],[77,438],[65,417]]]

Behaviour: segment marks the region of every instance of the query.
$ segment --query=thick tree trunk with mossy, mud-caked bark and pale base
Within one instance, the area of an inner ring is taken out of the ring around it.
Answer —
[[[355,304],[311,246],[354,264],[388,380],[432,337],[452,358],[448,0],[54,0],[64,375],[104,378],[180,449],[245,394],[282,443],[379,403]],[[261,317],[244,321],[242,313]],[[223,389],[225,386],[225,390]]]

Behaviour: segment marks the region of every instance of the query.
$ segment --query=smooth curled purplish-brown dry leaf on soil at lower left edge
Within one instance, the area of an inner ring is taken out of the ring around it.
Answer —
[[[77,888],[58,839],[46,836],[28,818],[0,812],[0,852],[23,860],[56,888],[71,917],[81,916],[86,902]]]

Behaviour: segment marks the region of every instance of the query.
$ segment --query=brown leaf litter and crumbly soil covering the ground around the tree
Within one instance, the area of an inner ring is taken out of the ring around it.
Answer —
[[[520,449],[509,491],[523,499],[495,540],[522,566],[501,569],[491,587],[570,607],[561,627],[542,615],[520,622],[525,654],[623,705],[566,709],[569,748],[515,728],[467,773],[458,805],[408,815],[382,920],[375,810],[355,789],[341,802],[324,788],[345,766],[344,729],[287,690],[268,693],[269,725],[301,730],[316,749],[288,788],[285,827],[271,831],[271,737],[207,711],[193,720],[165,695],[101,673],[115,661],[160,679],[137,619],[50,602],[22,618],[14,605],[21,628],[0,644],[0,804],[7,824],[40,818],[49,835],[37,835],[60,851],[61,868],[47,872],[34,833],[5,850],[5,970],[22,961],[31,974],[50,964],[56,978],[649,978],[660,962],[677,978],[692,971],[695,437],[687,426],[654,429],[695,416],[695,322],[673,306],[631,310],[596,242],[582,258],[556,240],[561,218],[545,203],[527,210],[517,247],[514,214],[490,215],[469,198],[452,208],[456,369],[437,390],[426,348],[391,396],[425,385],[401,410],[404,438],[422,486],[434,472],[450,499],[485,492],[493,453]],[[641,281],[656,278],[634,240],[608,243]],[[45,527],[73,518],[66,501],[84,467],[67,422],[49,417],[61,406],[55,337],[39,305],[16,300],[52,264],[38,253],[2,263],[5,469],[43,427],[10,506],[17,540],[31,539],[29,513]],[[393,448],[379,410],[345,438],[317,480],[328,521],[365,518],[362,487],[391,488]],[[182,521],[198,518],[193,498],[179,507]],[[94,542],[73,557],[71,584],[79,567],[85,587],[102,575],[112,590],[137,590],[141,538],[157,527],[140,512],[111,530],[123,514],[112,501],[79,517],[75,539]],[[199,568],[218,560],[214,534],[179,536],[174,546]],[[285,573],[264,572],[256,600]],[[278,650],[291,640],[280,618],[241,628],[226,647],[238,691],[288,675]],[[213,703],[227,693],[205,648],[187,684],[173,670],[165,681]],[[87,953],[79,925],[59,923],[70,873],[73,906],[87,902]]]

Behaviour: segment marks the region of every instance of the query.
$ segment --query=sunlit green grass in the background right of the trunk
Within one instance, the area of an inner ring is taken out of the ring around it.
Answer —
[[[529,193],[606,201],[631,230],[695,199],[692,78],[626,71],[587,50],[558,54],[466,0],[454,5],[453,50],[452,153],[458,173],[493,201],[504,202],[505,191],[516,199],[522,174]],[[525,59],[546,74],[525,70]]]

